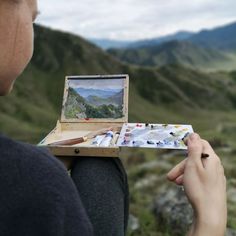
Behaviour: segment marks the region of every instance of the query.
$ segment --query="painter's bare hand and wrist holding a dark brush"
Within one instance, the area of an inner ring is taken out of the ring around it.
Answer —
[[[191,236],[223,236],[227,221],[226,179],[219,157],[210,144],[198,134],[186,140],[188,158],[167,175],[170,181],[183,185],[191,203],[195,221]],[[209,154],[206,159],[202,153]]]

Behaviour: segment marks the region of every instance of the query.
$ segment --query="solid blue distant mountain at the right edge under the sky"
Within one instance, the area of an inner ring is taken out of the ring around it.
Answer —
[[[187,40],[205,48],[236,52],[236,22],[213,30],[203,30]]]

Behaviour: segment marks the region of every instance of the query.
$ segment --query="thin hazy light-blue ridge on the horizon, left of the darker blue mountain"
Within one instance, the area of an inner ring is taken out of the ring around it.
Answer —
[[[137,42],[133,42],[129,44],[126,48],[143,48],[143,47],[153,47],[157,46],[166,42],[170,41],[182,41],[187,40],[191,36],[193,36],[194,33],[188,32],[188,31],[179,31],[175,34],[170,34],[163,37],[153,38],[153,39],[147,39],[147,40],[140,40]]]

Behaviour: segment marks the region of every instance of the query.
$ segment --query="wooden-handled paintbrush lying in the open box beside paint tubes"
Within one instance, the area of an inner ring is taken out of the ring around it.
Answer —
[[[49,143],[48,145],[49,146],[75,145],[75,144],[86,142],[88,139],[92,139],[92,138],[96,137],[97,135],[106,134],[108,131],[111,131],[111,130],[113,130],[113,127],[92,131],[92,132],[88,133],[86,136],[82,136],[82,137],[79,137],[79,138],[61,140],[61,141]]]

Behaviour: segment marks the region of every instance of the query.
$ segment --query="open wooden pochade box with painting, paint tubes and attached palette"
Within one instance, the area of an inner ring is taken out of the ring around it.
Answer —
[[[55,156],[119,157],[120,147],[187,149],[191,125],[128,123],[128,75],[67,76],[61,119],[39,145]]]

